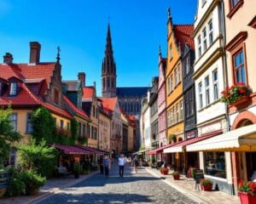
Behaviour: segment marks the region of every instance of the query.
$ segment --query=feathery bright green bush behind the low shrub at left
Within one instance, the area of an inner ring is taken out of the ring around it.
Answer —
[[[54,147],[46,145],[45,140],[36,143],[35,139],[32,139],[31,144],[21,145],[18,150],[20,150],[20,163],[23,167],[35,170],[42,176],[51,176],[57,156]]]

